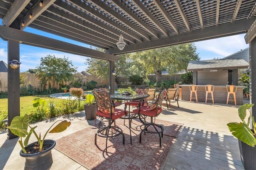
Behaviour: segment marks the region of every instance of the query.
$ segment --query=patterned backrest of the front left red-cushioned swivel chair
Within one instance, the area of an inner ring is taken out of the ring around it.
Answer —
[[[98,111],[102,113],[114,113],[114,103],[111,100],[110,94],[104,90],[93,90],[92,91]]]

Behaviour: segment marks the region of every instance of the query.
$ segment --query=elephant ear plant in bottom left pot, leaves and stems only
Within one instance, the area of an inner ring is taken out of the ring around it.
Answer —
[[[57,122],[60,123],[58,125],[56,125],[54,128],[53,125]],[[68,128],[70,126],[70,122],[68,121],[56,121],[48,130],[47,132],[44,134],[43,138],[41,139],[41,133],[38,134],[35,131],[35,128],[37,127],[31,127],[28,123],[29,123],[29,116],[28,115],[24,115],[23,117],[20,116],[16,116],[12,119],[11,125],[8,126],[7,128],[9,128],[11,130],[11,132],[13,134],[15,134],[16,136],[20,137],[20,140],[18,141],[21,148],[22,148],[22,152],[24,154],[27,153],[26,149],[24,146],[28,146],[28,140],[31,136],[31,134],[33,133],[37,140],[38,140],[38,145],[39,145],[39,152],[43,151],[43,144],[44,144],[44,139],[46,137],[46,134],[48,133],[58,133],[58,132],[62,132],[64,130],[66,130],[66,128]],[[28,127],[30,128],[30,131],[28,132]],[[52,130],[50,130],[52,128]],[[24,142],[22,141],[22,138],[26,137]]]

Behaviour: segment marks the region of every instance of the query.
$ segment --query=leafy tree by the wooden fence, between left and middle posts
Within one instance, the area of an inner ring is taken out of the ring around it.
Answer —
[[[73,79],[73,74],[76,73],[77,67],[74,67],[72,61],[66,58],[57,58],[52,55],[47,55],[40,59],[40,65],[36,67],[36,75],[39,77],[43,89],[46,88],[46,82],[52,80],[53,87],[55,84],[62,81],[70,81]]]

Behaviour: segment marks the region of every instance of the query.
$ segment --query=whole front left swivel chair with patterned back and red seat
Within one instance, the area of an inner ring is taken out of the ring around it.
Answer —
[[[124,144],[124,134],[120,127],[116,126],[115,120],[125,115],[123,109],[116,109],[110,94],[104,90],[92,91],[97,104],[97,116],[108,121],[106,127],[99,128],[95,134],[95,145],[97,144],[97,136],[106,138],[106,152],[108,138],[112,138],[122,134]],[[114,125],[113,125],[114,123]]]

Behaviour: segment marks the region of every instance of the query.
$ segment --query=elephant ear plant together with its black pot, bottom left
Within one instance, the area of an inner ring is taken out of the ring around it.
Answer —
[[[55,123],[57,122],[58,121]],[[22,148],[22,150],[20,150],[20,156],[26,158],[24,169],[48,170],[52,166],[53,160],[51,150],[54,148],[56,142],[54,140],[46,140],[46,134],[62,132],[66,130],[71,123],[60,121],[58,125],[52,128],[54,123],[46,131],[42,139],[41,133],[39,133],[39,135],[36,133],[36,127],[31,127],[28,123],[28,115],[24,115],[23,117],[16,116],[12,119],[11,125],[7,127],[13,134],[20,137],[20,140],[18,141]],[[30,128],[29,131],[28,127]],[[36,136],[37,141],[28,145],[28,140],[32,133]],[[24,137],[25,140],[23,141],[22,138]]]

